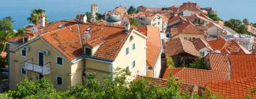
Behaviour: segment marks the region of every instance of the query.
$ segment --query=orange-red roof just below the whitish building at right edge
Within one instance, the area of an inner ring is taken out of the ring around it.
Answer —
[[[239,53],[239,54],[250,54],[245,48],[240,46],[237,42],[231,40],[225,40],[223,37],[219,37],[217,40],[208,41],[210,47],[213,50],[219,50],[223,54],[228,53]]]

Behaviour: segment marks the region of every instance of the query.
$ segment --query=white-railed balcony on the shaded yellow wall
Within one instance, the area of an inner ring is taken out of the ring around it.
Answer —
[[[28,71],[34,71],[43,75],[50,74],[50,62],[40,66],[38,64],[33,64],[33,59],[28,59],[24,62],[24,68]]]

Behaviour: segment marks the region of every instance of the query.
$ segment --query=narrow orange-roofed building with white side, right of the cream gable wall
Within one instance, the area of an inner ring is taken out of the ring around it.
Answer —
[[[142,26],[137,31],[146,35],[146,76],[159,78],[161,71],[161,37],[159,28]]]

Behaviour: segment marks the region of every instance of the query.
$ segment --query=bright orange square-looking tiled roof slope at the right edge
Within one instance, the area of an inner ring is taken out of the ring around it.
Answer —
[[[230,54],[232,78],[256,76],[256,54]]]

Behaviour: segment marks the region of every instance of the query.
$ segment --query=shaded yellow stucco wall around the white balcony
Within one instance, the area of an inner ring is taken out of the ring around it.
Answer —
[[[38,46],[40,45],[40,46]],[[44,64],[50,62],[50,71],[51,73],[45,75],[44,78],[50,80],[55,88],[58,90],[65,90],[70,86],[70,72],[71,72],[71,64],[67,62],[66,59],[58,52],[53,50],[48,44],[46,44],[43,40],[38,39],[30,44],[26,45],[29,47],[30,50],[27,52],[27,57],[21,57],[21,49],[14,50],[11,49],[10,53],[10,65],[11,65],[11,89],[16,88],[16,84],[19,81],[22,81],[23,75],[21,74],[21,66],[23,66],[23,62],[27,59],[33,58],[33,64],[38,64],[38,52],[43,50],[48,50],[49,54],[44,55]],[[63,57],[63,66],[57,66],[56,64],[56,57]],[[61,70],[61,71],[60,71]],[[29,79],[36,79],[38,78],[38,73],[31,73],[33,71],[27,71],[27,76]],[[63,77],[63,85],[58,85],[56,83],[56,76]]]

